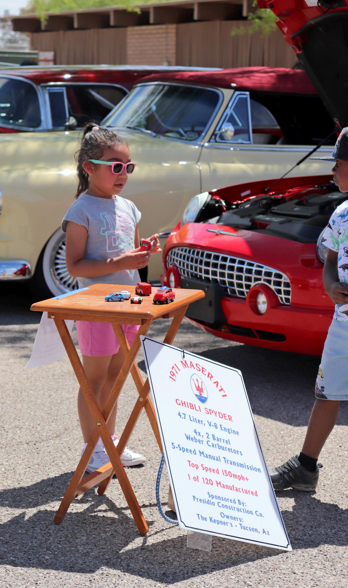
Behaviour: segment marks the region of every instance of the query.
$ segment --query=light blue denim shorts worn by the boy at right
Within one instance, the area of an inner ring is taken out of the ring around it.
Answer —
[[[316,398],[348,400],[348,321],[333,319],[316,381]]]

